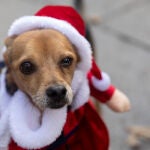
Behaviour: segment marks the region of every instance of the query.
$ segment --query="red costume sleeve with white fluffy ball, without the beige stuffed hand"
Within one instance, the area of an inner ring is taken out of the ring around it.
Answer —
[[[90,95],[103,103],[109,101],[114,94],[115,87],[111,84],[108,74],[101,72],[94,60],[92,60],[92,68],[87,77]]]

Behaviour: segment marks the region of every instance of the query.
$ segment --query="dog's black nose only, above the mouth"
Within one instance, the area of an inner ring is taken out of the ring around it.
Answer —
[[[65,99],[67,90],[62,85],[51,86],[46,90],[46,94],[52,100],[60,101]]]

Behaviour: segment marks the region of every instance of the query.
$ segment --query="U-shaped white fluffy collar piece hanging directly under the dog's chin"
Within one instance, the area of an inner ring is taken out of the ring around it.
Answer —
[[[11,104],[10,131],[18,145],[28,149],[42,148],[60,136],[66,116],[66,106],[46,109],[43,116],[40,116],[39,110],[29,102],[26,95],[18,91]]]

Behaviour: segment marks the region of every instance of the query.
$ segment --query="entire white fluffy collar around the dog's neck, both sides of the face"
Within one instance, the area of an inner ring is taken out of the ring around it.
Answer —
[[[60,136],[67,118],[67,106],[57,110],[46,109],[40,120],[39,110],[23,92],[18,90],[14,96],[8,95],[5,72],[0,75],[0,86],[0,149],[8,147],[10,138],[23,148],[39,149]],[[72,89],[74,111],[84,105],[89,97],[88,82],[80,70],[75,71]]]

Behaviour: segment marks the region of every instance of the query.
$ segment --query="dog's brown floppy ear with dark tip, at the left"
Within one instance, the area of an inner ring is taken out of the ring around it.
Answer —
[[[4,61],[7,67],[6,72],[6,89],[10,95],[13,95],[17,91],[17,86],[11,74],[11,46],[16,36],[8,37],[5,40],[6,51],[3,54]]]

